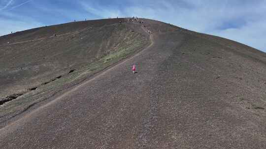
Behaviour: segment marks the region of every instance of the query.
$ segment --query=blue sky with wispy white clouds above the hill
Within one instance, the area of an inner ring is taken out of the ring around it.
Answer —
[[[117,16],[159,20],[266,52],[266,0],[0,0],[0,35]]]

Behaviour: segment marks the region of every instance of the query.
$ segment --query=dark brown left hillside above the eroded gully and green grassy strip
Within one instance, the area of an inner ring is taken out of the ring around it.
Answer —
[[[0,98],[95,62],[111,52],[145,41],[124,19],[53,25],[0,37]]]

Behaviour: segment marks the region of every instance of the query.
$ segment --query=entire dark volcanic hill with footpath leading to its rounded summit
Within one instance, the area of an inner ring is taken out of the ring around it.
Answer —
[[[265,124],[266,53],[232,40],[132,18],[0,37],[1,149],[265,149]]]

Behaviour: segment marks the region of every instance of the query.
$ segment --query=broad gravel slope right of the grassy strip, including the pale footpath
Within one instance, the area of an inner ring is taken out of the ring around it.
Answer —
[[[266,149],[266,53],[142,20],[149,47],[2,127],[1,149]]]

